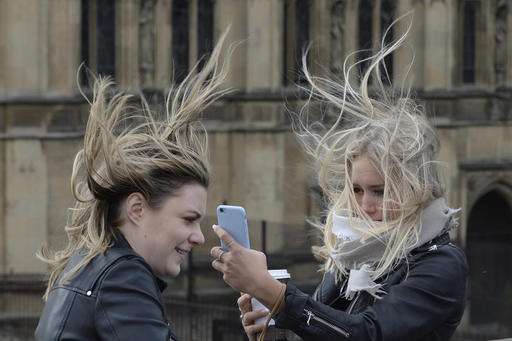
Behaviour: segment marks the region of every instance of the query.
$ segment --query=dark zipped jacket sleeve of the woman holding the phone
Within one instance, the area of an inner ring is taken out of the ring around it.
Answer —
[[[396,341],[421,339],[450,317],[460,319],[468,271],[463,252],[442,246],[410,266],[404,281],[355,315],[316,302],[288,284],[285,309],[276,324],[307,341]]]

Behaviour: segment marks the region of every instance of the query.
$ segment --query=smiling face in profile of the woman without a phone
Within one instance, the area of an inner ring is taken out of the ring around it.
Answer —
[[[127,199],[130,210],[130,197]],[[206,210],[206,189],[183,185],[158,208],[134,208],[131,228],[121,231],[135,252],[161,276],[177,276],[194,246],[204,243],[200,221]]]

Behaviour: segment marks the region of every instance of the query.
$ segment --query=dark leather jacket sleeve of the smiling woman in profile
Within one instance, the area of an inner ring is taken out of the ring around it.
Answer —
[[[123,259],[105,274],[95,307],[101,340],[172,340],[150,270],[140,261]]]

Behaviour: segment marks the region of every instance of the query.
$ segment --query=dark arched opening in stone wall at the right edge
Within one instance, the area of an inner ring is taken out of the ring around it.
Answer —
[[[470,323],[511,328],[512,208],[501,191],[488,192],[473,206],[466,254],[470,268]]]

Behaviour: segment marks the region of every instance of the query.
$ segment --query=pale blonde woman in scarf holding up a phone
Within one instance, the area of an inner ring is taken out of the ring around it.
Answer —
[[[330,106],[327,118],[334,113],[328,128],[306,114],[295,120],[327,206],[323,244],[313,250],[324,276],[313,297],[273,279],[263,253],[214,227],[230,248],[213,248],[212,265],[245,293],[238,305],[250,340],[264,338],[266,326],[255,323],[264,316],[322,341],[448,340],[459,324],[468,270],[448,234],[457,210],[444,199],[439,139],[422,106],[382,83],[384,58],[404,39],[367,61],[358,88],[349,82],[357,64],[345,62],[345,81],[335,82],[312,76],[303,59],[311,98]],[[253,311],[251,297],[268,309]]]

